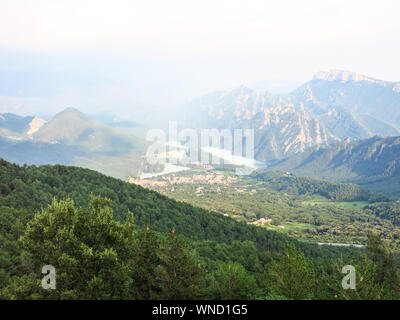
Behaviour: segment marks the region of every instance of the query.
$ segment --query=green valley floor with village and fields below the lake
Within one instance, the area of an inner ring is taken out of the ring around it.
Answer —
[[[306,241],[365,244],[367,231],[374,230],[400,249],[399,225],[374,211],[377,205],[392,203],[400,208],[400,204],[355,185],[296,177],[289,172],[256,171],[238,176],[226,168],[192,169],[129,182]]]

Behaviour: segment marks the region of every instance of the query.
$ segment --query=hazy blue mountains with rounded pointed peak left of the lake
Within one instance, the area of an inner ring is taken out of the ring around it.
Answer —
[[[18,164],[77,165],[120,178],[143,166],[144,140],[73,108],[48,122],[0,114],[0,130],[0,157]]]

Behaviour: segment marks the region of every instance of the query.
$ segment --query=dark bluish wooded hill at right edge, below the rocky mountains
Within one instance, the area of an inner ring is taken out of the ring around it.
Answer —
[[[400,137],[373,137],[315,147],[272,164],[269,170],[353,182],[400,196]]]

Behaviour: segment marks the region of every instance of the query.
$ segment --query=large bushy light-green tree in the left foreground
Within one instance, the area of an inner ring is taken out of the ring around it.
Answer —
[[[54,200],[35,215],[22,237],[34,278],[13,279],[5,292],[16,298],[128,299],[132,230],[129,222],[113,220],[110,200],[92,197],[85,210],[76,209],[72,200]],[[56,270],[55,290],[40,285],[44,265]]]

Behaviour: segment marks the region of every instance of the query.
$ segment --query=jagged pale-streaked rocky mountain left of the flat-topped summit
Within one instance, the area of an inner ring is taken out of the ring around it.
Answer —
[[[196,128],[254,129],[258,160],[280,158],[315,144],[336,141],[302,104],[244,86],[197,99],[185,110],[187,117],[182,121]]]

